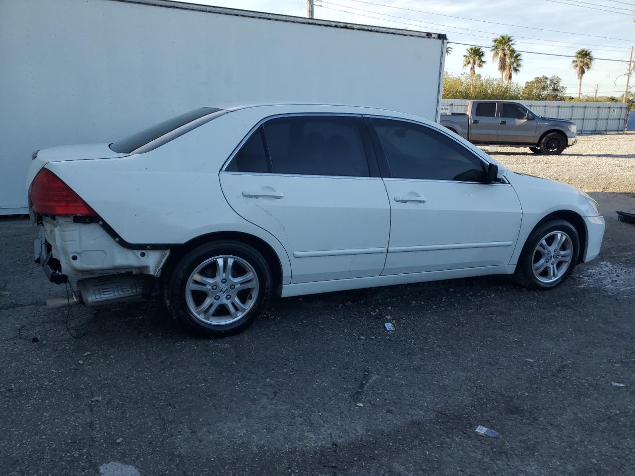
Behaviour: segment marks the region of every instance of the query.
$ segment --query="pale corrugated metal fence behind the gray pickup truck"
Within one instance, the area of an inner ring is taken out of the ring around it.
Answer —
[[[467,99],[441,100],[441,114],[465,112]],[[578,134],[624,132],[629,117],[627,104],[615,102],[518,101],[536,114],[570,119],[578,126]],[[444,107],[445,106],[445,107]]]

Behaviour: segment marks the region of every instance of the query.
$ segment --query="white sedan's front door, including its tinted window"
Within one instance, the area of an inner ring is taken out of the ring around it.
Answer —
[[[392,208],[382,274],[507,265],[522,215],[511,185],[482,183],[480,157],[438,129],[379,117],[368,123]]]

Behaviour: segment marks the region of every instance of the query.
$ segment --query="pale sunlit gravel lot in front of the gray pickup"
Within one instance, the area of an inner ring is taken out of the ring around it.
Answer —
[[[584,135],[560,155],[483,147],[505,167],[569,183],[585,192],[635,193],[635,134]]]

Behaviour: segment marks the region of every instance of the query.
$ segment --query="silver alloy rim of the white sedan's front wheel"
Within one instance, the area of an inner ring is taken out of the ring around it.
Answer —
[[[571,265],[573,242],[562,231],[550,232],[536,245],[531,260],[534,277],[545,284],[558,281]]]

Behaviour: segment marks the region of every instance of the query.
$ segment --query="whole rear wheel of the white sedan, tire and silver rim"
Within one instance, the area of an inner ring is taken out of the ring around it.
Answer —
[[[264,313],[271,288],[271,270],[256,249],[237,241],[210,242],[175,266],[166,289],[168,309],[199,336],[227,336]]]

